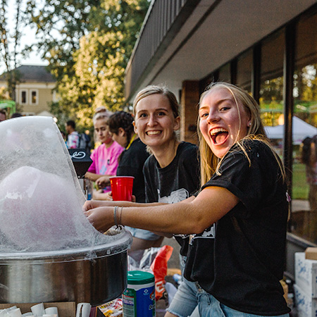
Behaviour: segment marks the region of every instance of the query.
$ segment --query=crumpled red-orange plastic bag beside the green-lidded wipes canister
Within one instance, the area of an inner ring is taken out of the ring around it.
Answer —
[[[159,252],[156,254],[156,257],[151,264],[151,270],[154,273],[155,277],[155,299],[156,301],[159,300],[163,292],[165,291],[165,277],[167,274],[168,268],[168,260],[173,253],[173,247],[170,245],[164,245],[161,247]]]

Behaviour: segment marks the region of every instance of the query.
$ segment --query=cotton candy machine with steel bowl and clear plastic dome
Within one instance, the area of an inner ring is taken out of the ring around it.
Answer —
[[[127,285],[130,233],[103,235],[51,118],[0,123],[0,303],[90,302]]]

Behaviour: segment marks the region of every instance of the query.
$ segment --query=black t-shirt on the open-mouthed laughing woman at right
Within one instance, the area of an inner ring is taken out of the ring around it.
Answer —
[[[185,278],[237,311],[289,313],[279,282],[285,268],[287,187],[266,144],[247,140],[244,149],[250,161],[234,145],[221,163],[221,175],[202,187],[224,187],[240,202],[216,224],[192,235]]]

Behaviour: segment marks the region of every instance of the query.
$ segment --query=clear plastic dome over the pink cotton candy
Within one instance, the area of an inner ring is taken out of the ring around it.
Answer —
[[[52,118],[4,120],[0,144],[0,253],[128,249],[128,232],[103,235],[82,212],[85,197]]]

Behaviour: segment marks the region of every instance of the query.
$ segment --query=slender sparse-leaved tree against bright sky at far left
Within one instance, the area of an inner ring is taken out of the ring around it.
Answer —
[[[4,63],[4,78],[7,81],[8,94],[15,101],[15,89],[20,76],[16,70],[19,59],[27,55],[30,48],[21,47],[20,39],[23,27],[26,25],[26,15],[23,0],[10,0],[10,5],[14,9],[13,23],[10,24],[8,18],[8,1],[0,0],[0,57]]]

